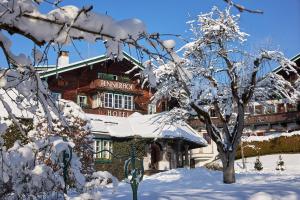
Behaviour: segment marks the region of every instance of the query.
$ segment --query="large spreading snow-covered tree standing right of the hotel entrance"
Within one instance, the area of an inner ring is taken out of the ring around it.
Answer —
[[[217,144],[224,183],[235,182],[234,159],[249,102],[273,98],[295,102],[299,97],[295,85],[268,68],[277,64],[287,72],[296,72],[294,63],[278,51],[243,50],[249,35],[240,30],[238,21],[239,15],[231,14],[230,9],[214,7],[199,15],[189,22],[192,41],[177,52],[171,42],[163,43],[171,61],[147,61],[143,74],[156,88],[154,101],[175,98],[205,125]],[[178,52],[183,52],[182,56]],[[212,109],[218,122],[211,118]]]

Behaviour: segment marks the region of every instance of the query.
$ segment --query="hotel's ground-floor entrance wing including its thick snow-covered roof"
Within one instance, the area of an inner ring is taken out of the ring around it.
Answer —
[[[134,143],[139,145],[141,142],[139,148],[143,152],[141,158],[145,171],[163,171],[189,165],[189,151],[207,144],[185,122],[166,122],[167,113],[133,113],[129,117],[88,114],[88,117],[91,119],[96,151],[106,148],[120,154],[118,145],[128,141],[136,141]],[[97,166],[96,163],[96,168],[101,170],[110,170],[111,163],[115,161],[107,152],[97,154],[96,158],[102,164]]]

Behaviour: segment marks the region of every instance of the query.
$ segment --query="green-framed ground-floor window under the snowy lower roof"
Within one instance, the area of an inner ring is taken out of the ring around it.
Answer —
[[[111,160],[112,155],[107,152],[99,152],[102,150],[109,150],[112,152],[112,141],[111,140],[104,140],[104,139],[95,139],[95,152],[97,154],[95,155],[96,159],[106,159],[106,160]]]

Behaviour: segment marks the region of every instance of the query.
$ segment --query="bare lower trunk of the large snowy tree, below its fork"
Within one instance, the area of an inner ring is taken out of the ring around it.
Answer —
[[[221,160],[223,164],[223,182],[226,184],[235,183],[234,158],[235,151],[223,153]]]

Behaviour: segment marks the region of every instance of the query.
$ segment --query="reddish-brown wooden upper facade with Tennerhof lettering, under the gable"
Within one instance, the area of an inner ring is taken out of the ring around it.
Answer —
[[[135,66],[137,70],[126,74]],[[47,80],[55,98],[77,102],[86,113],[128,117],[134,112],[147,114],[166,110],[166,102],[150,104],[151,90],[141,88],[134,76],[139,69],[142,69],[139,62],[124,53],[122,61],[98,56],[48,68],[41,72],[41,77]]]

